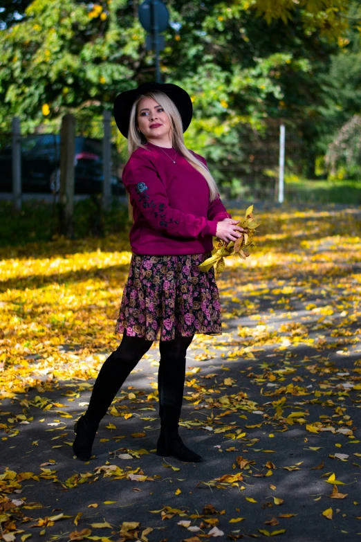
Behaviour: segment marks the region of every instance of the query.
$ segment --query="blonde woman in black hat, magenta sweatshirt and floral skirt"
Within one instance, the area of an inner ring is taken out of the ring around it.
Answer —
[[[198,462],[201,456],[178,435],[185,355],[194,334],[221,334],[214,269],[205,273],[198,265],[211,255],[212,235],[230,242],[243,230],[221,203],[205,159],[184,145],[192,120],[185,90],[144,83],[118,95],[113,111],[128,138],[122,180],[133,215],[133,254],[115,326],[122,341],[102,365],[88,409],[75,424],[73,450],[77,458],[91,458],[99,422],[120,386],[160,341],[157,454]]]

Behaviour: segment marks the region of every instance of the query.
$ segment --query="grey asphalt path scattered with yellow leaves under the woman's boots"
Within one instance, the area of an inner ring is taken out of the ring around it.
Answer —
[[[318,250],[321,257],[330,246]],[[254,282],[258,295],[248,288],[238,298],[239,271],[226,269],[219,280],[224,333],[196,336],[187,352],[180,434],[203,456],[199,464],[154,453],[157,343],[100,424],[95,457],[85,464],[73,458],[71,442],[93,380],[47,386],[47,375],[35,369],[44,385],[0,404],[0,427],[6,428],[0,520],[8,525],[4,514],[10,514],[14,525],[14,538],[7,534],[4,540],[22,541],[26,534],[30,542],[82,536],[105,542],[359,540],[360,318],[351,318],[348,333],[337,336],[346,318],[342,308],[337,312],[334,304],[324,318],[304,309],[306,302],[316,309],[331,305],[335,280],[344,284],[340,295],[347,287],[360,292],[359,260],[340,258],[337,269],[332,276],[322,268],[313,274],[300,264],[296,276],[285,267],[266,283]],[[303,297],[296,287],[285,304],[280,280],[285,286],[306,281],[308,287]],[[280,291],[268,296],[260,286]],[[254,307],[247,311],[245,303]]]

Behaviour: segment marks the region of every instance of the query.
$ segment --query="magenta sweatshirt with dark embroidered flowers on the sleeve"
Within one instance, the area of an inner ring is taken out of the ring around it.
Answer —
[[[203,156],[193,154],[207,165]],[[210,203],[207,181],[174,147],[139,147],[124,166],[122,181],[133,206],[129,240],[135,254],[212,251],[217,222],[231,218],[219,195]]]

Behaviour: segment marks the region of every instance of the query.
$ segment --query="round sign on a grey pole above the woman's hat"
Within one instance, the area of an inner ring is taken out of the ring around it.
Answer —
[[[168,26],[169,13],[162,0],[145,0],[138,8],[140,24],[149,34],[146,47],[156,55],[156,81],[162,82],[159,69],[159,51],[165,47],[164,36],[160,35]]]

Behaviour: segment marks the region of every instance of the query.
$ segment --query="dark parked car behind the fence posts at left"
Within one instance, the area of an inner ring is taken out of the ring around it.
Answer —
[[[112,145],[112,160],[116,149]],[[59,191],[60,135],[37,134],[21,138],[21,186],[23,192]],[[75,136],[75,194],[98,194],[103,184],[102,140]],[[0,191],[12,191],[11,145],[0,148]],[[113,195],[125,195],[122,179],[111,175]]]

